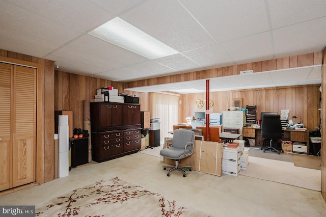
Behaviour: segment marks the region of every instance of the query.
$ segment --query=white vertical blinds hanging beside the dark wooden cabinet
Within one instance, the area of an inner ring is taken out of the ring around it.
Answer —
[[[159,118],[160,125],[160,142],[164,142],[165,137],[171,137],[169,131],[173,130],[173,125],[178,124],[179,114],[179,96],[151,93],[151,118]]]

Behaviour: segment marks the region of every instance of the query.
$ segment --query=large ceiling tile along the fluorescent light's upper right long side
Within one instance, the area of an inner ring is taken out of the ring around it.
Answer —
[[[120,17],[180,52],[214,43],[177,1],[148,0]]]

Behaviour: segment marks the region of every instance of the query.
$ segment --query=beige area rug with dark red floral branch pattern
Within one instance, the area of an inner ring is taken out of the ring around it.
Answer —
[[[36,206],[36,216],[211,216],[118,177]]]

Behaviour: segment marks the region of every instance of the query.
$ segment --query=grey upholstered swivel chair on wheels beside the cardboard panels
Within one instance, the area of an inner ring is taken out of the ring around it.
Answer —
[[[176,129],[173,132],[173,138],[171,140],[166,140],[164,147],[166,147],[166,143],[172,142],[171,147],[164,148],[160,150],[159,154],[163,157],[175,160],[175,166],[172,165],[164,165],[164,170],[167,167],[171,168],[167,170],[167,175],[170,176],[170,172],[175,169],[180,169],[183,171],[183,177],[186,177],[187,173],[183,168],[188,168],[189,171],[192,171],[191,166],[182,166],[180,167],[180,159],[186,158],[193,154],[194,152],[194,140],[195,140],[195,132],[188,129]]]

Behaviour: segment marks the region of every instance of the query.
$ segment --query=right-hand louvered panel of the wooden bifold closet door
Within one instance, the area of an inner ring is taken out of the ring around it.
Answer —
[[[13,187],[36,181],[36,69],[14,66]]]

